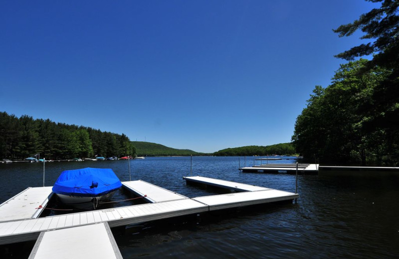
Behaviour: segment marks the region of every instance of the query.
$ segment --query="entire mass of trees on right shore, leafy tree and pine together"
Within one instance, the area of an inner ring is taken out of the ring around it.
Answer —
[[[341,65],[327,88],[316,86],[298,116],[292,136],[296,150],[320,162],[361,165],[399,164],[399,4],[382,2],[353,23],[335,30],[349,36],[358,29],[373,39],[337,55]],[[356,57],[373,54],[371,60]]]

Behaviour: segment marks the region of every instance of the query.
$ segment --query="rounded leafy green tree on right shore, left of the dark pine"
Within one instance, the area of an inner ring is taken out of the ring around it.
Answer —
[[[298,116],[292,137],[296,150],[305,157],[317,155],[321,161],[382,160],[387,153],[389,134],[384,129],[365,130],[370,120],[373,90],[390,71],[379,67],[364,71],[368,60],[341,65],[332,84],[316,86],[307,107]]]

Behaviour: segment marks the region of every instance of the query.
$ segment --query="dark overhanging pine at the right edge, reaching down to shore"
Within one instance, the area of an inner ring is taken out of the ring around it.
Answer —
[[[361,75],[370,74],[376,69],[385,69],[384,80],[363,93],[368,102],[358,107],[364,115],[358,130],[366,134],[364,146],[379,144],[376,153],[385,153],[392,159],[398,158],[399,150],[399,1],[370,0],[381,2],[380,8],[374,8],[362,14],[352,23],[339,26],[334,31],[340,37],[350,36],[362,30],[362,39],[368,43],[355,46],[337,55],[339,58],[354,60],[356,57],[373,54],[373,58],[364,64]],[[365,99],[363,101],[366,101]]]

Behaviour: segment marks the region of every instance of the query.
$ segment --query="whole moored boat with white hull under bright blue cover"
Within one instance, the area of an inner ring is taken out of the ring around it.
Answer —
[[[60,201],[78,209],[96,209],[122,186],[112,169],[83,168],[63,171],[52,188]]]

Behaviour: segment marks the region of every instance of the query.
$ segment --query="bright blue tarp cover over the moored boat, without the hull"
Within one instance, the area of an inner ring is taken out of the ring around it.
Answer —
[[[122,186],[112,169],[83,168],[63,171],[52,190],[57,194],[96,197]]]

